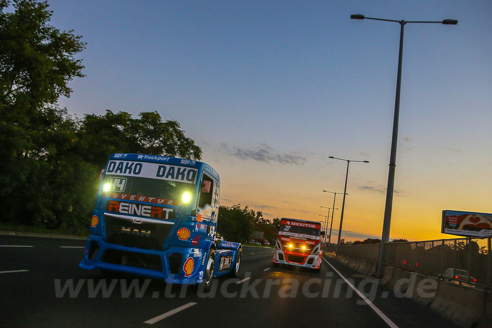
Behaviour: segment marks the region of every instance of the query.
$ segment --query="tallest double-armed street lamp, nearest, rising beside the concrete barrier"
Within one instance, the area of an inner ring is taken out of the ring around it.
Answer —
[[[384,207],[384,221],[383,232],[381,236],[381,245],[379,248],[379,259],[377,265],[377,275],[381,276],[381,267],[383,262],[383,256],[385,251],[384,243],[390,239],[390,225],[391,225],[391,209],[393,207],[393,187],[395,185],[395,167],[397,160],[397,140],[398,140],[398,120],[400,117],[400,90],[401,90],[401,61],[403,59],[403,29],[407,23],[437,23],[443,25],[456,25],[458,21],[455,19],[444,19],[442,21],[397,21],[392,19],[381,19],[366,17],[361,14],[351,15],[351,19],[373,19],[376,21],[396,22],[400,24],[400,51],[398,55],[398,74],[397,74],[397,91],[395,96],[395,114],[393,117],[393,136],[391,139],[391,154],[390,154],[390,168],[388,171],[388,187],[386,188],[386,205]],[[342,209],[343,212],[343,209]]]

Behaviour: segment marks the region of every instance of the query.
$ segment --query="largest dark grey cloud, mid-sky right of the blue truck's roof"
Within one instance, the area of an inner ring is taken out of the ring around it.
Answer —
[[[240,147],[233,147],[230,149],[225,143],[220,144],[220,147],[225,150],[228,155],[239,159],[252,159],[264,163],[278,162],[280,164],[292,165],[303,165],[306,162],[306,157],[304,156],[292,153],[275,153],[274,150],[266,144],[261,144],[259,148],[255,149],[245,149]]]

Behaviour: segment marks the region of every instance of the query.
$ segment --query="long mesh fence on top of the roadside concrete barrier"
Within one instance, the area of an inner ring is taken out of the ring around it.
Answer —
[[[377,262],[379,243],[345,245],[338,254]],[[326,254],[334,257],[336,246],[326,246]],[[388,242],[385,266],[419,272],[432,277],[492,288],[491,239],[437,239]]]

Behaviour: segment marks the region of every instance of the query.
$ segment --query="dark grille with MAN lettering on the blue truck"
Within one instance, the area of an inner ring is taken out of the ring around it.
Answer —
[[[105,215],[104,220],[106,222],[106,239],[109,243],[143,249],[162,249],[162,245],[172,228],[171,224],[147,222],[137,224],[109,215]],[[146,233],[140,233],[142,231]]]

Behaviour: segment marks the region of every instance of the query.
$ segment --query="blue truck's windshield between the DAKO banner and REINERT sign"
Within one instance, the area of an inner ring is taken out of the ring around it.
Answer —
[[[106,175],[101,193],[106,197],[178,206],[191,195],[194,184],[161,179]]]

